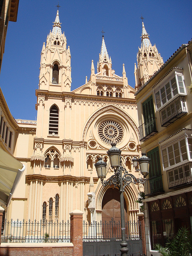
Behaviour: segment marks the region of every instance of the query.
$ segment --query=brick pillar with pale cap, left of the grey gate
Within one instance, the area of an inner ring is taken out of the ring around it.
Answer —
[[[70,236],[73,243],[73,255],[83,255],[83,212],[74,210],[70,212]]]

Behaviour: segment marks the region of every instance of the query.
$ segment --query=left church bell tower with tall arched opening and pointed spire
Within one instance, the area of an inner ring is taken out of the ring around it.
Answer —
[[[71,54],[69,46],[66,48],[66,36],[61,32],[58,10],[53,23],[41,52],[39,90],[70,92]]]

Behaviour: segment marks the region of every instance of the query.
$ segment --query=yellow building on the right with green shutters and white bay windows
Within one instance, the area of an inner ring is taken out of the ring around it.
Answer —
[[[192,227],[191,52],[192,41],[183,44],[135,94],[141,150],[151,158],[144,216],[147,253],[154,256],[154,244]]]

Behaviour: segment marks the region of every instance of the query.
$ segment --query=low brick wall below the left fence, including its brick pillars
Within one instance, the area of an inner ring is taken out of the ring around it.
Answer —
[[[80,210],[70,213],[70,243],[2,243],[0,245],[0,256],[82,256],[82,215],[83,212]],[[0,211],[0,227],[1,225],[2,211]]]

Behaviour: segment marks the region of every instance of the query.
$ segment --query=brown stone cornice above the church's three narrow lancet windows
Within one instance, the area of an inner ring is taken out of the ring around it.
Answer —
[[[45,182],[63,182],[63,181],[72,181],[72,182],[90,182],[90,177],[76,177],[71,175],[62,175],[62,176],[46,176],[41,174],[28,174],[26,175],[27,181],[40,180]],[[93,178],[94,183],[98,182],[98,178]]]

